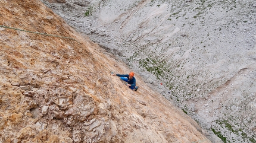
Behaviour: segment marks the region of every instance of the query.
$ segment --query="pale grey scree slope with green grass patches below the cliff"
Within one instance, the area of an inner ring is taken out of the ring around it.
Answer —
[[[223,142],[256,142],[256,1],[42,1]]]

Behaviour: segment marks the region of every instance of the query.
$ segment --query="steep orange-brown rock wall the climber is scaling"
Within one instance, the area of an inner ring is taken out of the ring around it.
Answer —
[[[0,142],[210,142],[138,74],[138,92],[111,75],[130,70],[40,1],[0,11],[2,26],[38,32],[0,28]]]

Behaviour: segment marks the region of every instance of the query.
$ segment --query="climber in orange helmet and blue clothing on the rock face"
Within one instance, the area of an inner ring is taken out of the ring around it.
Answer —
[[[121,78],[121,80],[126,81],[127,82],[127,86],[134,90],[137,91],[138,90],[138,86],[136,86],[136,79],[134,77],[134,72],[130,72],[129,75],[121,75],[121,74],[115,74],[118,77]]]

